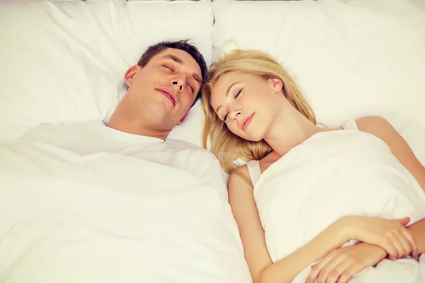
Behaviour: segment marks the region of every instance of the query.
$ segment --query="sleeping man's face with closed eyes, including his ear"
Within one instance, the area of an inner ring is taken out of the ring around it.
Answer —
[[[202,83],[200,67],[190,54],[169,48],[145,67],[135,65],[125,74],[130,108],[159,130],[180,124],[191,108]]]

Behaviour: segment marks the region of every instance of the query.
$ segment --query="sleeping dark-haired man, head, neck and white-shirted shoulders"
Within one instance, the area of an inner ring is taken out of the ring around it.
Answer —
[[[148,47],[125,72],[128,90],[108,121],[43,125],[23,139],[41,141],[83,158],[113,154],[176,168],[220,187],[220,193],[227,197],[221,168],[210,151],[186,141],[166,140],[200,98],[207,71],[202,54],[186,40],[159,42]],[[111,174],[117,174],[115,163],[108,166]],[[123,174],[106,185],[115,180],[125,185],[131,178]],[[79,178],[84,180],[85,176],[81,173]]]

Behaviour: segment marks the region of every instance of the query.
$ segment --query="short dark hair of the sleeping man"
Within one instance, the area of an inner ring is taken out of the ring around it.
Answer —
[[[188,40],[163,41],[157,43],[156,45],[149,46],[145,53],[143,53],[142,57],[140,57],[139,62],[137,62],[137,65],[139,65],[140,67],[145,67],[152,57],[168,48],[174,48],[188,52],[188,54],[190,54],[193,59],[195,59],[195,61],[200,67],[200,72],[202,75],[202,84],[206,81],[208,68],[207,64],[205,63],[205,59],[202,54],[200,54],[198,48],[189,44]],[[198,98],[200,98],[200,91],[196,96],[195,102],[198,100]]]

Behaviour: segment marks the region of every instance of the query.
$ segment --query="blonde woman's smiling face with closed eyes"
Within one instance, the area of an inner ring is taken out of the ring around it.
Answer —
[[[211,105],[232,133],[260,141],[281,110],[282,87],[280,79],[230,72],[212,87]]]

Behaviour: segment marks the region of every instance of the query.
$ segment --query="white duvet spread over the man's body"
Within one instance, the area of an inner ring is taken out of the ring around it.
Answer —
[[[0,282],[251,277],[229,204],[210,182],[132,156],[26,142],[0,147]]]

